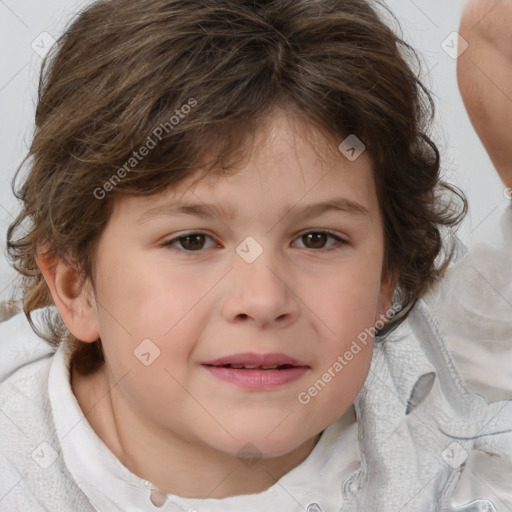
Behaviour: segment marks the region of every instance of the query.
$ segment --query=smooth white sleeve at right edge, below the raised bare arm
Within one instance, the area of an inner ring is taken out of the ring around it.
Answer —
[[[475,245],[426,298],[469,386],[490,401],[512,398],[512,204],[500,224],[501,239]]]

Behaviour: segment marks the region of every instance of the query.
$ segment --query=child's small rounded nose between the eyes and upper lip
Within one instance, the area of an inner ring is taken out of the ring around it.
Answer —
[[[252,263],[234,255],[222,306],[228,322],[283,328],[297,320],[297,292],[292,289],[284,264],[278,263],[278,258],[272,257],[270,251],[263,251]]]

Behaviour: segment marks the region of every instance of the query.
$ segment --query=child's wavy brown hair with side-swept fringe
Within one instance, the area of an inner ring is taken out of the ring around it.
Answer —
[[[419,70],[416,54],[380,8],[365,0],[87,7],[43,63],[29,173],[18,191],[24,163],[13,179],[23,208],[7,233],[8,254],[35,332],[52,345],[70,343],[78,371],[99,367],[101,340],[77,340],[52,308],[44,332],[34,326],[31,313],[54,304],[38,248],[47,244],[94,286],[95,249],[116,198],[160,192],[200,167],[225,172],[276,106],[338,143],[356,134],[366,145],[383,215],[384,271],[399,276],[403,308],[380,334],[398,325],[445,270],[451,253],[442,250],[441,230],[456,226],[467,204],[440,178],[428,135],[434,106],[411,67]],[[144,146],[150,151],[139,160],[134,151]]]

